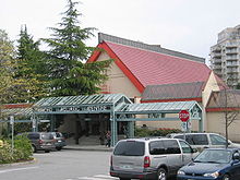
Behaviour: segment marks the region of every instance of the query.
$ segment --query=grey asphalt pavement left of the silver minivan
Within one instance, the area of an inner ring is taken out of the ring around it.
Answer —
[[[35,153],[35,161],[0,167],[8,180],[112,180],[109,176],[111,152],[73,151]]]

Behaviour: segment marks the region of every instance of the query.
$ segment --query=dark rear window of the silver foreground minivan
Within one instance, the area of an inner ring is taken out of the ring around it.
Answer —
[[[117,144],[113,154],[119,156],[143,156],[144,146],[144,142],[123,141]]]

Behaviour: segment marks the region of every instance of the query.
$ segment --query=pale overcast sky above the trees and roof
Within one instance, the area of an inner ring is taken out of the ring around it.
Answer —
[[[226,27],[240,24],[240,0],[81,0],[82,27],[161,45],[208,59]],[[26,24],[35,39],[49,37],[67,0],[0,0],[0,28],[14,40]],[[97,45],[97,36],[87,41]]]

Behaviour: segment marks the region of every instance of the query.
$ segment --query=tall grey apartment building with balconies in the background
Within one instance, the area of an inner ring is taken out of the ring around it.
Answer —
[[[240,25],[218,34],[211,47],[211,68],[232,88],[240,84]]]

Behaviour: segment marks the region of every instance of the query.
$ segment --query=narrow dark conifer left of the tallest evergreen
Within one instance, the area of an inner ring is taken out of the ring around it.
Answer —
[[[45,84],[43,69],[43,53],[38,46],[39,41],[34,41],[28,35],[26,26],[21,29],[17,40],[17,68],[15,70],[15,81],[19,96],[17,101],[34,101],[37,98],[45,96]]]

